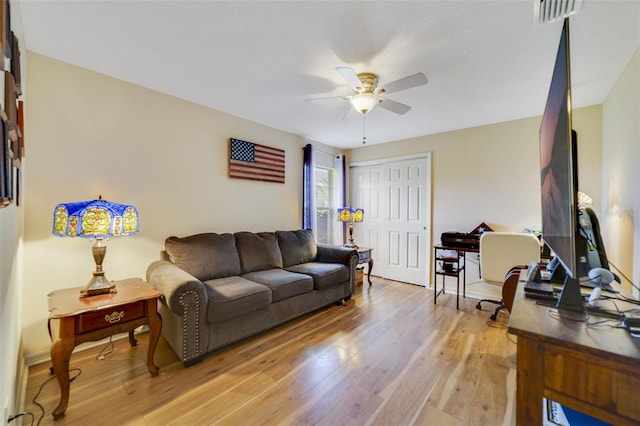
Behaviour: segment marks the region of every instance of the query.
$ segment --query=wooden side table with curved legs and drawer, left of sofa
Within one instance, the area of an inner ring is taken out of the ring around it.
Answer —
[[[147,368],[152,377],[159,368],[153,362],[162,330],[158,314],[161,292],[147,282],[131,278],[115,282],[117,293],[80,299],[80,287],[49,293],[49,335],[53,372],[60,385],[60,402],[53,410],[54,420],[64,417],[69,404],[69,360],[78,344],[101,340],[118,333],[129,332],[129,343],[136,346],[133,330],[149,326]]]

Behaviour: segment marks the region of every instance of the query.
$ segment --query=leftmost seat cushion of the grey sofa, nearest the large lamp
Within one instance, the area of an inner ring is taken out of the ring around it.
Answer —
[[[207,320],[224,321],[265,308],[271,304],[268,287],[242,277],[226,277],[204,283],[207,291]]]

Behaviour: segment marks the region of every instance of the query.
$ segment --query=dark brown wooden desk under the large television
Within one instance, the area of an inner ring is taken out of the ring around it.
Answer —
[[[509,333],[518,336],[517,424],[541,425],[544,397],[615,425],[637,425],[640,339],[558,317],[525,298],[522,278],[509,319]]]

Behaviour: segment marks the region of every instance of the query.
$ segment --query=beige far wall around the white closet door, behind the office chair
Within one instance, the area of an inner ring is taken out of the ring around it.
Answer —
[[[468,232],[481,222],[496,231],[520,231],[540,224],[540,119],[358,148],[348,153],[348,161],[431,152],[434,242],[442,232]],[[601,193],[601,124],[600,106],[574,110],[580,189],[596,206]]]

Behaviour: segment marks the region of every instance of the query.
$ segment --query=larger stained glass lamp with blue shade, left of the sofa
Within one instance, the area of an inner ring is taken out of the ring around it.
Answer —
[[[115,293],[116,286],[102,270],[107,246],[102,240],[114,236],[138,233],[138,210],[127,204],[102,199],[58,204],[53,211],[53,235],[58,237],[92,238],[96,270],[89,284],[80,290],[80,297]]]

